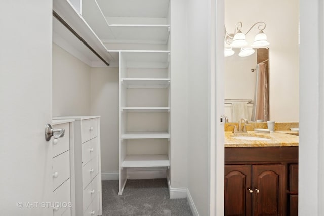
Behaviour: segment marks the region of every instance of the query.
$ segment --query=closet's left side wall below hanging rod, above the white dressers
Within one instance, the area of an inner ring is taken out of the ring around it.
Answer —
[[[90,69],[53,44],[53,117],[90,115]]]

